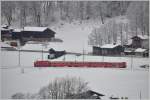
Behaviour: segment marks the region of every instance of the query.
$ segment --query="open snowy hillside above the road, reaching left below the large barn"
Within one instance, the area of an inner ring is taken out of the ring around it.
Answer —
[[[63,25],[61,25],[63,23]],[[47,43],[47,47],[38,43],[28,43],[21,50],[44,50],[49,48],[66,50],[67,52],[85,53],[92,52],[92,47],[88,45],[88,36],[95,27],[99,27],[101,23],[97,20],[85,21],[82,24],[78,21],[72,23],[61,22],[51,28],[56,32],[56,37],[63,40],[62,43]],[[58,49],[59,48],[59,49]]]

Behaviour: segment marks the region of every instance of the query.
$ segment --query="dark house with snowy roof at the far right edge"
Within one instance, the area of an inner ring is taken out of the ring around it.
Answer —
[[[131,38],[132,48],[144,48],[149,49],[149,38],[147,35],[137,35]]]

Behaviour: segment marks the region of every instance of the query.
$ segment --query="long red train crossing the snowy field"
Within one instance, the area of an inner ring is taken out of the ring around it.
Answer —
[[[126,62],[36,61],[34,67],[102,67],[126,68]]]

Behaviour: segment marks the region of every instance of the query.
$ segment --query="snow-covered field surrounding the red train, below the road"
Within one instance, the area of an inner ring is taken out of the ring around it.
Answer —
[[[1,51],[2,97],[10,98],[16,92],[36,93],[56,77],[79,76],[89,82],[89,86],[106,96],[127,96],[132,99],[148,98],[148,70],[139,68],[148,64],[148,58],[85,56],[85,61],[126,61],[126,69],[108,68],[34,68],[33,62],[42,59],[39,52],[21,52],[20,66],[17,51]],[[44,60],[47,53],[44,53]],[[57,60],[63,60],[63,57]],[[82,56],[65,55],[66,60],[81,61]],[[8,63],[9,61],[9,63]],[[131,69],[131,61],[133,68]],[[24,68],[24,73],[22,69]]]

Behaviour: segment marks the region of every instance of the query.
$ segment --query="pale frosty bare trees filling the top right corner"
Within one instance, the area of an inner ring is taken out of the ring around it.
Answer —
[[[142,34],[149,33],[149,3],[148,1],[134,1],[127,9],[127,16],[131,22],[132,31],[136,34],[138,29]]]

